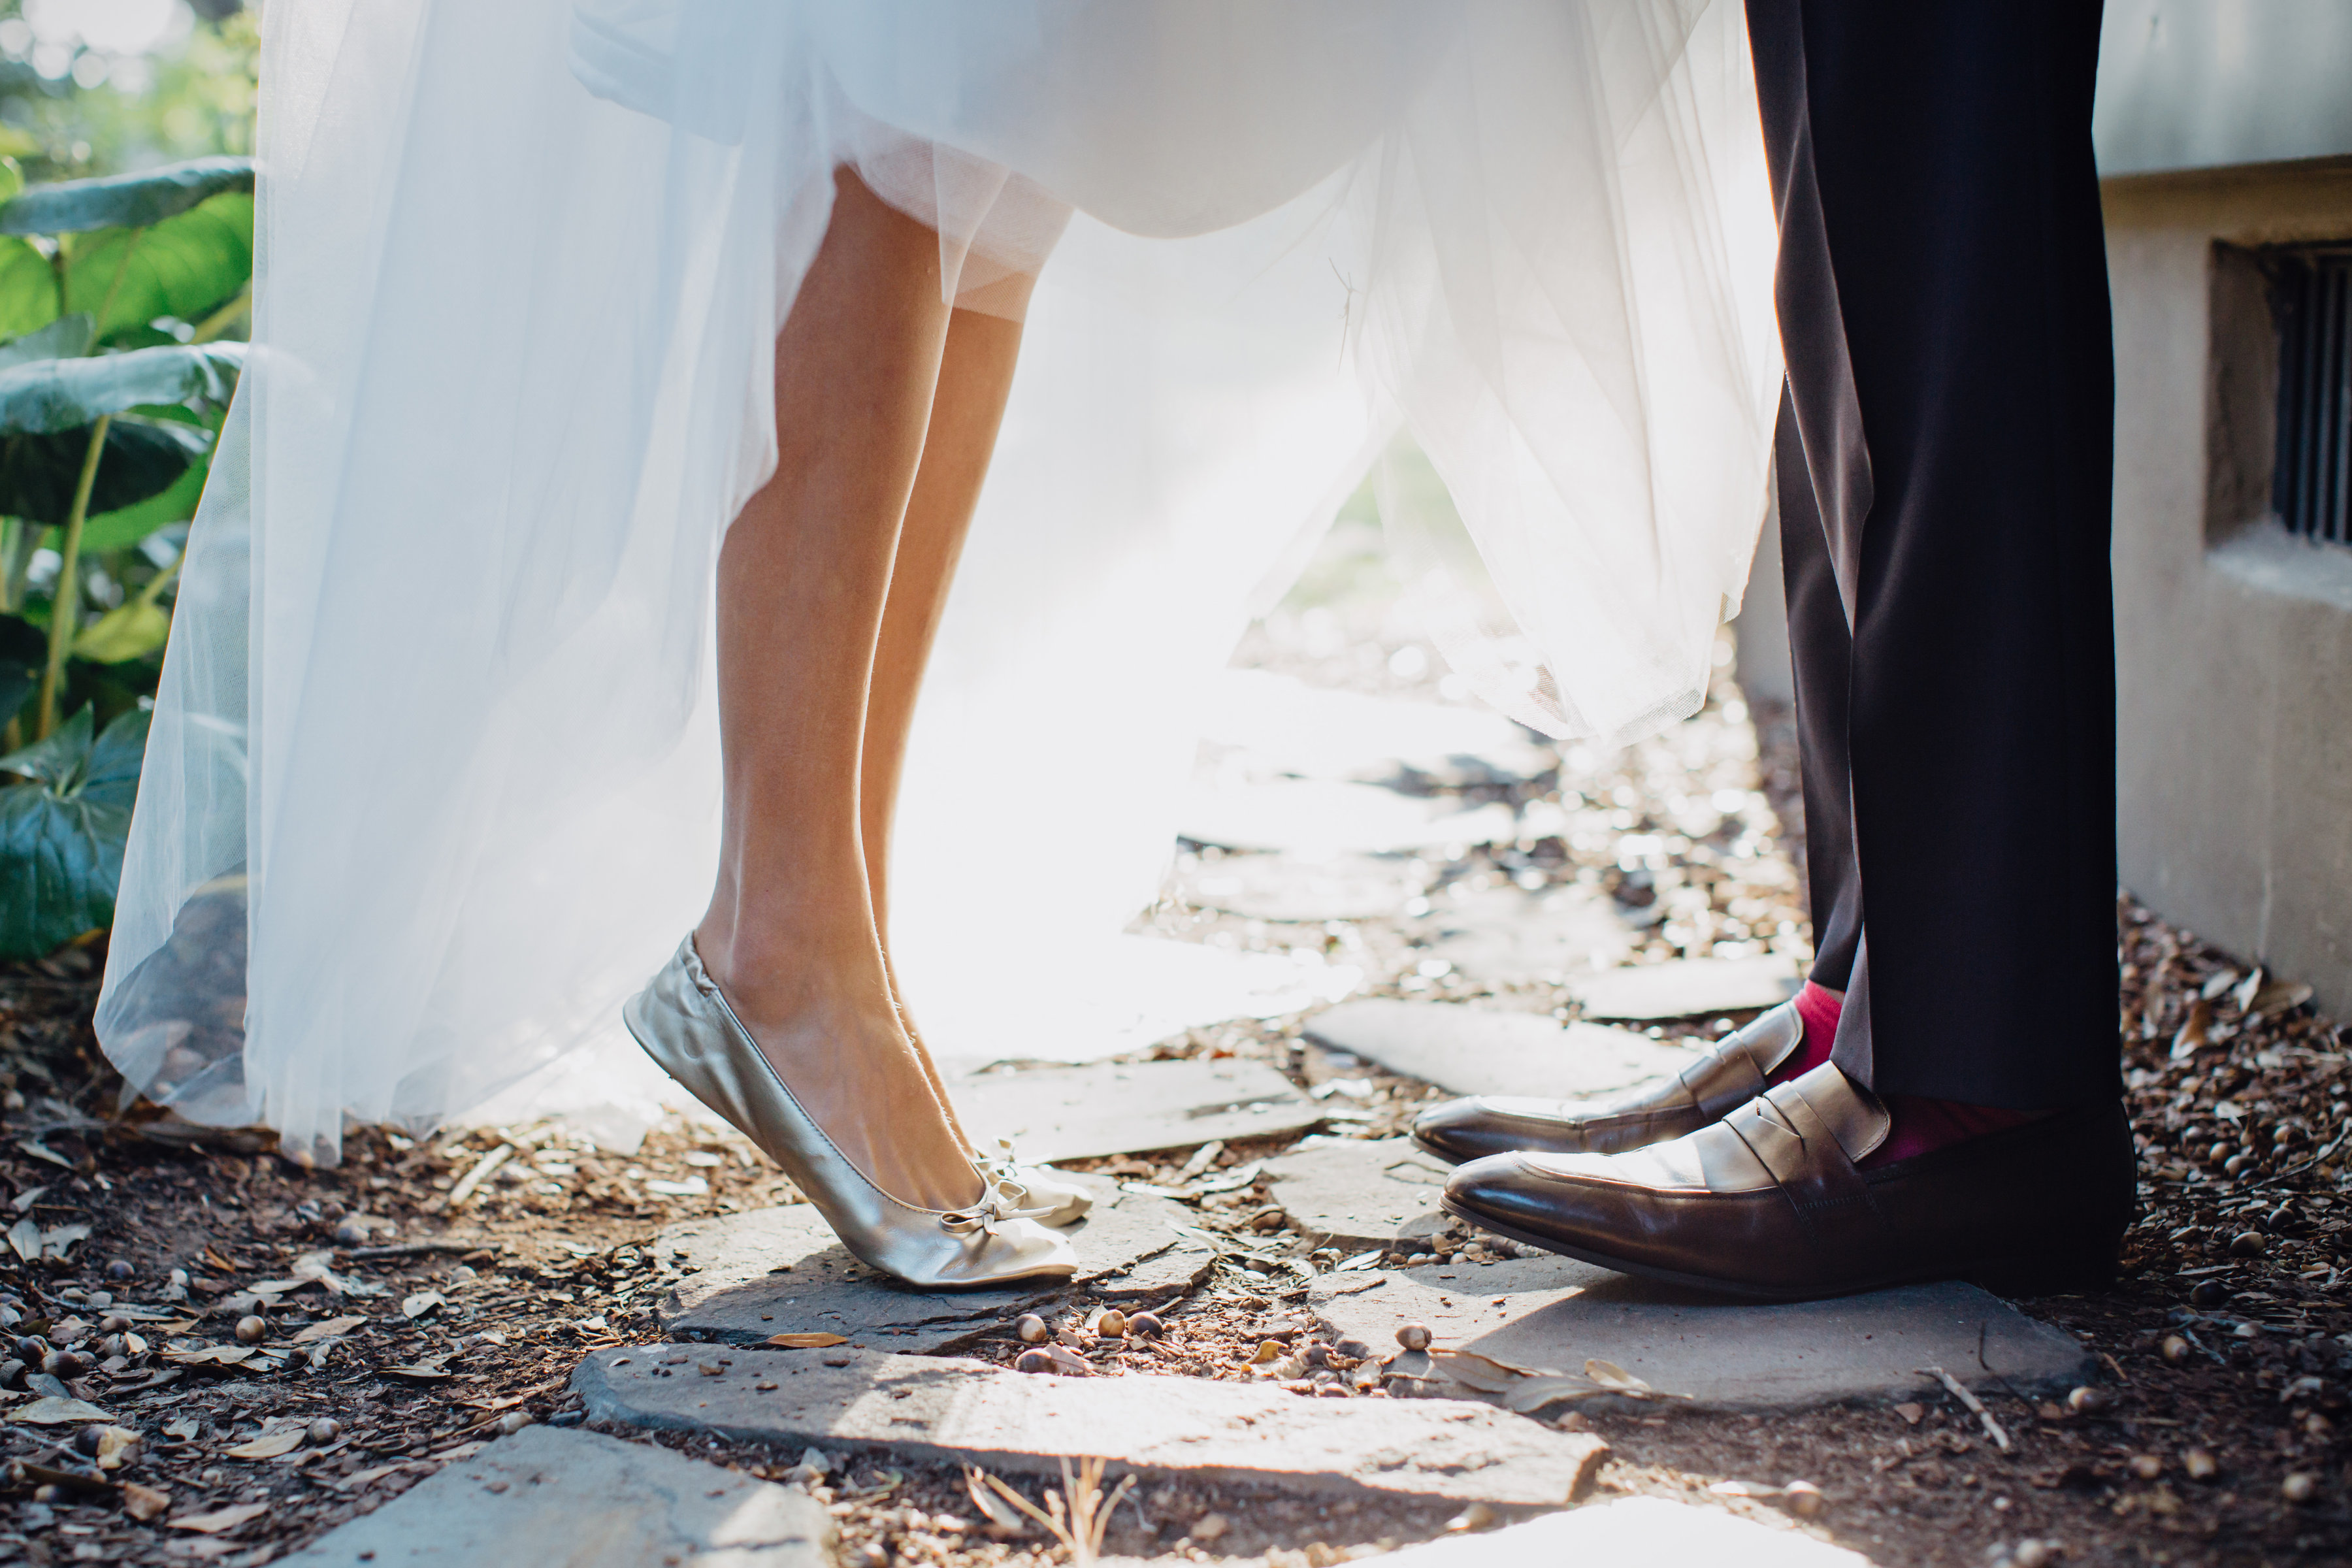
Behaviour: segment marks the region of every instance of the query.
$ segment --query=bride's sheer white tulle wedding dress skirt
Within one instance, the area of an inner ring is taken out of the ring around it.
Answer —
[[[1204,675],[1367,470],[1491,703],[1700,703],[1780,383],[1738,0],[273,5],[132,1086],[327,1161],[616,1034],[708,896],[713,564],[842,162],[962,303],[1042,266],[898,830],[934,1041],[1150,898]]]

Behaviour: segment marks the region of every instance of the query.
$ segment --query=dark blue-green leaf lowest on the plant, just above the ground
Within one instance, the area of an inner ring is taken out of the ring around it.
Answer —
[[[0,790],[0,959],[31,959],[115,917],[148,715],[92,743],[82,708],[47,741],[0,757],[31,780]]]

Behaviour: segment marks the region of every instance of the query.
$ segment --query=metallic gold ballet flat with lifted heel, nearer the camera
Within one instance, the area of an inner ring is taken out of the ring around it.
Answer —
[[[971,1208],[917,1208],[882,1192],[802,1110],[727,1006],[694,936],[628,999],[621,1020],[687,1093],[734,1121],[809,1194],[856,1258],[910,1286],[964,1291],[1077,1272],[1070,1241],[1037,1225],[1002,1182]]]

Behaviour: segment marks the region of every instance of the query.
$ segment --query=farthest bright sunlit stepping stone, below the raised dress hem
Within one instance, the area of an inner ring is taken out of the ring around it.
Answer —
[[[1202,738],[1301,778],[1381,783],[1409,771],[1463,788],[1519,783],[1559,766],[1552,748],[1486,708],[1399,703],[1263,670],[1218,675]]]

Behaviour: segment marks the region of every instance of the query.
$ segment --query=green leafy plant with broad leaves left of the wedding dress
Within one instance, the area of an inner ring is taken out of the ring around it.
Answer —
[[[245,362],[252,186],[200,158],[19,190],[0,160],[0,959],[113,919],[176,529]]]

